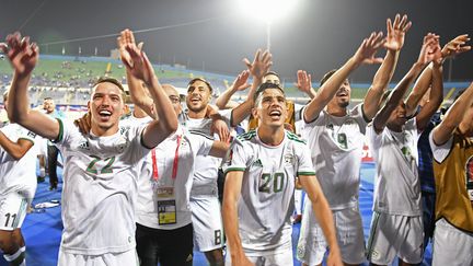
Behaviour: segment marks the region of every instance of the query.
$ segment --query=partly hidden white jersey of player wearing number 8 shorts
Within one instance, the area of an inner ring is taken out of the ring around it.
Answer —
[[[218,112],[227,122],[230,128],[231,109]],[[211,139],[218,139],[217,135],[211,134],[212,120],[209,118],[194,119],[185,116],[183,123],[185,128],[191,132],[205,135]],[[221,159],[208,155],[198,155],[195,160],[194,183],[191,190],[191,197],[215,196],[217,197],[217,177],[218,167],[221,164]]]

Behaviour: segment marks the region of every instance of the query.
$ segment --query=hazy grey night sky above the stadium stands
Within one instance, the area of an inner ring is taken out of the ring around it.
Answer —
[[[234,0],[0,0],[0,38],[21,30],[39,44],[116,34],[125,27],[147,30],[196,22],[137,34],[153,62],[177,62],[192,69],[235,76],[244,57],[266,46],[266,24],[236,11]],[[339,67],[372,31],[385,33],[385,19],[407,13],[413,26],[401,53],[394,80],[416,60],[423,36],[440,35],[441,44],[468,33],[473,36],[471,0],[299,0],[293,14],[272,25],[273,70],[293,80],[298,69],[313,81]],[[262,16],[270,13],[261,12]],[[108,56],[116,37],[42,45],[42,53]],[[379,56],[384,51],[380,50]],[[353,82],[370,82],[377,66],[361,67]],[[445,65],[448,77],[450,63]],[[473,51],[452,61],[452,81],[473,80]]]

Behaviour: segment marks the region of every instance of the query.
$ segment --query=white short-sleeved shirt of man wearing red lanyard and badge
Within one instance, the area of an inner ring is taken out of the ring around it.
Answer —
[[[138,182],[139,192],[136,209],[138,223],[149,228],[171,230],[192,222],[189,196],[194,176],[194,161],[197,155],[208,155],[212,143],[214,141],[207,137],[191,134],[180,126],[175,134],[155,148],[154,159],[153,151],[148,154],[141,178]],[[153,167],[155,167],[155,172]],[[159,195],[162,188],[171,188],[173,193],[162,197]],[[176,221],[160,224],[158,205],[166,200],[175,203]]]

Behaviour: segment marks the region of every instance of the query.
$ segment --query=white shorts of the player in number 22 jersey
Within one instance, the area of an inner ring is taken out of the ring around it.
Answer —
[[[82,255],[64,252],[59,248],[58,266],[139,266],[136,250],[123,253],[106,253],[102,255]]]

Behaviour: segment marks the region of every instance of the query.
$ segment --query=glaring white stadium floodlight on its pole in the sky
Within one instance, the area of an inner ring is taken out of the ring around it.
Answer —
[[[270,26],[276,20],[288,16],[298,0],[236,0],[245,15],[266,23],[266,49],[270,49]]]

